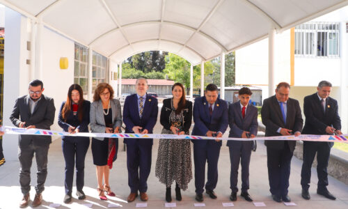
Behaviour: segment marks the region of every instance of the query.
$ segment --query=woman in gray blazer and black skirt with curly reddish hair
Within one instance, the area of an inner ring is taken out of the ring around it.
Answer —
[[[90,105],[90,129],[98,133],[119,133],[122,125],[120,101],[113,99],[113,88],[106,83],[98,84]],[[116,160],[118,140],[93,137],[93,164],[97,166],[98,193],[101,200],[107,200],[104,192],[115,196],[109,184],[109,169]],[[104,178],[104,185],[103,185]]]

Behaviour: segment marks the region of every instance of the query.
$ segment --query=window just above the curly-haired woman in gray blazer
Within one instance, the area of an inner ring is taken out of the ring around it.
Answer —
[[[107,73],[107,58],[93,52],[93,62],[92,62],[92,90],[95,91],[95,88],[98,84],[106,82],[106,73]]]

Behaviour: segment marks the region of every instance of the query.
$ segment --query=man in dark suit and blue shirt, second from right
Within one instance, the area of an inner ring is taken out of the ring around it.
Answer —
[[[290,85],[281,82],[276,95],[264,100],[261,116],[266,126],[266,137],[301,134],[303,119],[299,101],[289,98]],[[269,191],[274,201],[290,202],[287,195],[290,178],[290,164],[296,141],[264,141],[267,146],[267,167]]]

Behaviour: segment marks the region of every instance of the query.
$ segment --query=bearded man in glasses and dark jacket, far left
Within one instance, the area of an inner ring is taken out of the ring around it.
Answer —
[[[42,94],[45,90],[40,80],[29,83],[29,95],[17,98],[15,107],[10,115],[10,120],[17,127],[39,128],[49,130],[54,122],[54,100]],[[21,185],[23,199],[20,208],[25,208],[29,203],[30,170],[35,153],[38,166],[36,195],[31,206],[39,206],[42,202],[42,192],[45,189],[47,177],[47,155],[51,136],[18,135],[19,137],[19,183]]]

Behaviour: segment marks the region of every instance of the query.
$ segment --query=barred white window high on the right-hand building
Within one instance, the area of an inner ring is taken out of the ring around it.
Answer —
[[[295,27],[295,54],[340,56],[340,23],[309,22]]]

